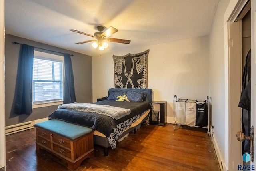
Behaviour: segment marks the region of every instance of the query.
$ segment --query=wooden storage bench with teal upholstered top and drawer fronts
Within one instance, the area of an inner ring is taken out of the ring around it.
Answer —
[[[34,125],[36,149],[45,149],[62,158],[71,169],[77,169],[82,161],[94,156],[94,129],[57,119]]]

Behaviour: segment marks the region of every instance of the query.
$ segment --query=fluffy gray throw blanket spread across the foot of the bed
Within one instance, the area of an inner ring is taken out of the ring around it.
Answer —
[[[124,109],[121,107],[114,107],[109,105],[97,105],[97,104],[90,104],[90,103],[70,103],[70,104],[63,104],[59,105],[58,109],[71,109],[71,110],[78,110],[90,113],[98,113],[101,115],[106,115],[112,117],[113,119],[120,119],[126,115],[131,113],[130,109]]]

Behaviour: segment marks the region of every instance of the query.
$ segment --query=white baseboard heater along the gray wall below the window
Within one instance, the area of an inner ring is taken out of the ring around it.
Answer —
[[[20,131],[32,129],[32,128],[34,128],[34,126],[33,126],[34,124],[35,124],[35,121],[30,121],[30,122],[7,126],[7,127],[5,127],[5,135],[10,135],[12,133],[17,133]]]

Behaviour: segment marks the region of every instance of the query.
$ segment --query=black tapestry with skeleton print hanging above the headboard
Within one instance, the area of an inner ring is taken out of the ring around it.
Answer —
[[[148,88],[148,53],[113,55],[115,88]]]

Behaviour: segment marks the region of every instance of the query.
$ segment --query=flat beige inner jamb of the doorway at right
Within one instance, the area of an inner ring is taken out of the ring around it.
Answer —
[[[237,131],[242,131],[242,110],[238,107],[242,90],[242,21],[228,22],[228,58],[225,58],[226,102],[228,105],[229,170],[237,170],[242,164],[242,143],[236,139]],[[226,156],[226,155],[225,155]],[[226,160],[225,160],[226,161]]]

